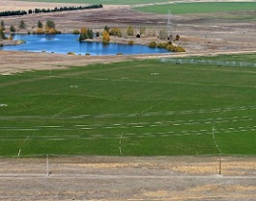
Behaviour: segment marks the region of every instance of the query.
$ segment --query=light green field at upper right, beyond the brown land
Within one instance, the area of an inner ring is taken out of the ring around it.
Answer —
[[[164,4],[135,8],[140,12],[162,13],[168,11],[173,14],[182,13],[221,13],[221,12],[241,12],[256,11],[256,2],[196,2]]]

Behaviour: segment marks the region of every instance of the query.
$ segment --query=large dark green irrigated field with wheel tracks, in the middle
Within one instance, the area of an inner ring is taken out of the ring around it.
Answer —
[[[252,54],[0,76],[0,156],[217,155],[216,144],[255,155],[255,63]]]

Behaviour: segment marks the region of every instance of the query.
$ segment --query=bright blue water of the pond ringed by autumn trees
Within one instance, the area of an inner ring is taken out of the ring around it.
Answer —
[[[62,35],[14,35],[14,40],[25,40],[26,43],[14,46],[4,46],[3,50],[29,51],[29,52],[54,52],[59,54],[67,54],[73,52],[75,54],[90,55],[116,55],[122,53],[124,55],[132,54],[155,54],[166,53],[165,49],[149,48],[143,45],[128,45],[110,43],[103,45],[101,42],[79,42],[78,35],[62,34]]]

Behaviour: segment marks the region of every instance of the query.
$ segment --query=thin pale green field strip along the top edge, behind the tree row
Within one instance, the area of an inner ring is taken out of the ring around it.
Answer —
[[[50,2],[50,3],[77,3],[77,4],[102,4],[102,5],[135,5],[152,4],[156,2],[168,2],[166,0],[20,0],[32,2]],[[176,0],[177,1],[177,0]]]

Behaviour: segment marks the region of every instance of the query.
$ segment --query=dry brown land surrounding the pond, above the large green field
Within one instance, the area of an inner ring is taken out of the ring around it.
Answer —
[[[2,0],[1,5],[12,5],[13,10],[19,8],[36,8],[39,3]],[[41,4],[40,4],[41,5]],[[42,4],[42,7],[67,6],[66,4]],[[1,7],[2,9],[5,7]],[[136,16],[136,17],[134,17]],[[57,29],[63,32],[72,32],[82,26],[101,31],[105,25],[126,28],[133,25],[136,28],[146,27],[148,37],[128,38],[136,43],[148,43],[157,40],[156,30],[166,27],[167,17],[162,14],[139,13],[127,6],[104,6],[103,9],[62,12],[40,13],[23,16],[2,17],[8,28],[11,24],[16,27],[21,19],[28,24],[27,31],[35,30],[38,20],[43,22],[53,19]],[[65,19],[65,20],[63,20]],[[182,55],[228,54],[255,52],[256,50],[256,21],[255,12],[236,13],[198,13],[172,15],[174,34],[181,35],[181,40],[176,45],[185,47]],[[177,54],[176,54],[177,55]],[[67,65],[83,65],[87,63],[103,63],[105,61],[133,60],[154,56],[112,56],[112,57],[85,57],[51,55],[45,53],[4,52],[0,51],[0,73],[10,74],[22,70],[59,68]],[[164,57],[169,56],[164,55]],[[35,61],[36,64],[35,64]]]

